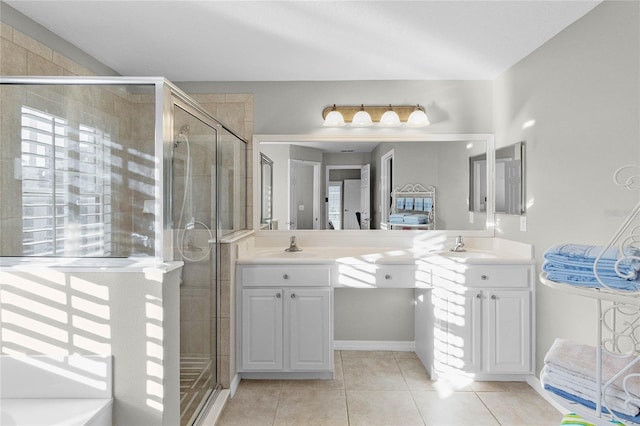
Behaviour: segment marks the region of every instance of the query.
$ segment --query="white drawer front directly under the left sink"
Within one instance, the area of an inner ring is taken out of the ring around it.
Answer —
[[[244,266],[244,287],[329,287],[331,267],[328,265]]]

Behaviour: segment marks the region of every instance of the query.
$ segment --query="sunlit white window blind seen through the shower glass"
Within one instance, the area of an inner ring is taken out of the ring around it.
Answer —
[[[108,134],[22,107],[22,245],[25,256],[108,256]]]

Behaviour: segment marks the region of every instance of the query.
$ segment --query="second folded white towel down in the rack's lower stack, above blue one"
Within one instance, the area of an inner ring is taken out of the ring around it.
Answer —
[[[595,380],[571,374],[561,367],[546,364],[540,373],[540,381],[543,385],[553,386],[582,399],[594,403],[597,400],[598,388]],[[637,395],[628,395],[615,385],[607,387],[603,403],[608,409],[629,416],[640,414],[640,399],[637,398]]]

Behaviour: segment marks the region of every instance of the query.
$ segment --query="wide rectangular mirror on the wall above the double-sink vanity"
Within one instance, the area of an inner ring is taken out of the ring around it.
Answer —
[[[433,229],[491,236],[493,144],[490,134],[255,135],[254,176],[266,178],[262,158],[268,157],[272,204],[269,219],[260,214],[263,208],[254,209],[254,229]],[[478,156],[484,157],[485,166],[475,180],[483,182],[486,203],[482,211],[470,211],[469,164]],[[434,211],[429,228],[389,226],[397,201],[394,190],[407,185],[436,188],[429,203]],[[264,188],[263,182],[254,181],[254,205],[266,200]]]

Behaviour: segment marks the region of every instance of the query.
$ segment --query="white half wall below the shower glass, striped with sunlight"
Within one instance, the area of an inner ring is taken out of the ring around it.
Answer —
[[[181,268],[140,269],[0,268],[2,353],[113,355],[113,424],[179,424]]]

